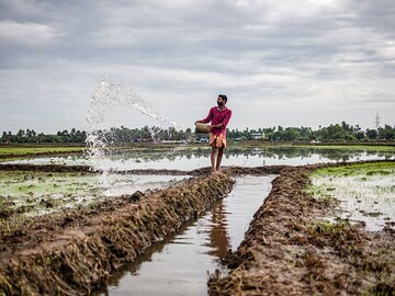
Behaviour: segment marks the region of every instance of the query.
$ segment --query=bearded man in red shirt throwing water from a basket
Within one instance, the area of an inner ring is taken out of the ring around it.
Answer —
[[[227,96],[219,94],[217,105],[213,106],[207,117],[196,123],[210,123],[210,145],[212,147],[211,164],[212,172],[218,173],[224,149],[226,147],[226,126],[232,117],[232,110],[226,106]]]

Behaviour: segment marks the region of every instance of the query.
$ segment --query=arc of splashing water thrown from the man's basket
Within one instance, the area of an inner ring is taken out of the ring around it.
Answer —
[[[92,93],[92,100],[87,116],[89,128],[86,143],[89,147],[87,153],[92,163],[92,170],[102,172],[99,178],[99,184],[104,187],[111,185],[108,181],[111,166],[108,164],[105,159],[111,155],[110,148],[116,145],[116,143],[114,143],[111,130],[103,126],[115,107],[126,107],[131,111],[138,111],[158,122],[160,128],[178,128],[176,123],[159,115],[151,106],[149,106],[133,88],[123,83],[114,83],[106,79],[102,80]],[[160,139],[156,135],[158,129],[150,128],[149,132],[154,143],[159,143]],[[193,137],[194,136],[191,135],[188,139],[183,140],[181,145],[168,153],[173,153],[174,151],[182,149],[182,147],[192,141]]]

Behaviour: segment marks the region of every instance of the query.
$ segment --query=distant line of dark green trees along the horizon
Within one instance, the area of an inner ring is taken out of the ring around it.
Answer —
[[[109,143],[136,143],[136,141],[162,141],[162,140],[190,140],[204,139],[206,135],[194,134],[191,128],[178,130],[173,127],[168,129],[160,127],[127,128],[125,126],[112,127],[102,130],[102,136]],[[395,126],[384,125],[377,129],[362,130],[359,125],[352,126],[346,122],[319,126],[318,129],[311,127],[282,127],[281,125],[267,128],[227,129],[229,140],[261,140],[261,141],[366,141],[366,140],[395,140]],[[2,144],[16,143],[84,143],[87,132],[71,128],[57,132],[56,134],[37,134],[34,129],[20,129],[16,134],[3,132],[0,138]]]

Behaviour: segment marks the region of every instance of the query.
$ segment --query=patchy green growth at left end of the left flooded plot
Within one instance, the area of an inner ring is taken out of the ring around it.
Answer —
[[[100,194],[92,174],[0,171],[0,210],[23,209],[23,215],[56,212]]]

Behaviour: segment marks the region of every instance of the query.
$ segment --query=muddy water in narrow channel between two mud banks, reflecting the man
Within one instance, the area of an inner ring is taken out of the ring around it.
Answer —
[[[239,178],[228,196],[112,275],[97,295],[206,295],[207,272],[226,272],[221,259],[241,242],[274,178]]]

